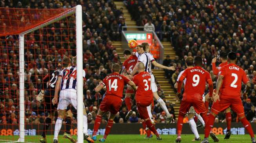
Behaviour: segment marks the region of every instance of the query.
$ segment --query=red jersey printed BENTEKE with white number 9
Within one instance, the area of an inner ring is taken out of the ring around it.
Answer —
[[[205,84],[212,84],[210,73],[201,68],[195,66],[193,68],[185,69],[180,77],[180,80],[186,80],[185,91],[183,93],[183,99],[186,98],[199,98],[203,99],[202,95],[205,91]]]

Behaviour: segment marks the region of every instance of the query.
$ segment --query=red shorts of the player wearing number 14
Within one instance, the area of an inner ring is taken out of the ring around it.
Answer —
[[[122,106],[122,99],[117,96],[107,95],[100,103],[100,110],[102,112],[110,111],[112,114],[118,113]]]

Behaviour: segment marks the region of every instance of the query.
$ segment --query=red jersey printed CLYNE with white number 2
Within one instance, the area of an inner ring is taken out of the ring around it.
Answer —
[[[219,75],[223,76],[222,98],[240,98],[242,82],[249,82],[245,71],[236,64],[227,64],[220,69]]]

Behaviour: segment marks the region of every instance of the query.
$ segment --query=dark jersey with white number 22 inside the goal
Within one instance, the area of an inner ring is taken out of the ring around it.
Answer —
[[[54,70],[50,75],[46,75],[43,78],[43,83],[44,83],[44,89],[49,89],[49,88],[55,88],[56,86],[56,82],[58,80],[58,76],[60,74],[60,72],[62,71],[61,68],[57,68],[56,70]],[[48,85],[46,84],[49,81]]]

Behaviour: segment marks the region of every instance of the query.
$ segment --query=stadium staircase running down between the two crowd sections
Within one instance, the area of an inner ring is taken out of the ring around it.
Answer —
[[[128,9],[125,7],[123,2],[114,2],[116,4],[116,8],[120,9],[123,7],[123,15],[125,18],[125,23],[127,26],[137,26],[136,22],[131,20],[131,15],[128,12]],[[127,28],[127,30],[137,30],[136,28]],[[174,59],[175,51],[171,46],[170,42],[162,42],[162,45],[164,47],[164,57],[166,55],[170,55],[171,59]],[[113,46],[116,47],[116,52],[120,57],[121,62],[123,63],[125,61],[125,58],[123,57],[123,50],[121,41],[114,41]],[[174,105],[175,115],[176,118],[178,117],[178,111],[180,107],[180,102],[176,101],[176,93],[174,92],[174,89],[171,88],[171,84],[169,83],[168,79],[165,79],[165,73],[162,69],[154,69],[153,70],[154,76],[156,77],[156,80],[161,86],[161,89],[163,90],[163,93],[165,95],[165,99],[169,101],[172,105]]]

